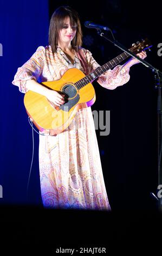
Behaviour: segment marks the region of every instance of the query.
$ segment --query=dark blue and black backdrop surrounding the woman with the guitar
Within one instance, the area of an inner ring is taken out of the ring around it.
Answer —
[[[157,45],[162,42],[160,6],[126,1],[1,1],[1,204],[42,205],[38,170],[38,135],[34,133],[35,151],[28,200],[27,183],[32,156],[32,133],[23,105],[24,94],[12,85],[17,68],[40,45],[48,44],[49,20],[53,11],[69,4],[79,12],[83,28],[83,47],[100,64],[121,51],[83,26],[93,21],[109,26],[115,39],[126,47],[141,38],[152,41],[147,61],[161,69],[162,57]],[[152,16],[154,15],[154,19]],[[111,34],[108,34],[111,37]],[[142,64],[131,68],[130,81],[115,90],[106,90],[94,82],[96,102],[92,110],[111,111],[111,132],[98,136],[103,176],[112,209],[156,209],[150,192],[156,193],[157,172],[157,91],[154,74]]]

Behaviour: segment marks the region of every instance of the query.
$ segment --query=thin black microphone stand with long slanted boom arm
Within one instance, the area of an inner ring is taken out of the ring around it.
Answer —
[[[114,46],[120,48],[122,51],[128,53],[130,56],[138,59],[143,65],[147,68],[152,69],[155,72],[155,88],[158,90],[158,100],[157,100],[157,114],[158,114],[158,187],[162,186],[162,164],[161,164],[161,154],[162,154],[162,107],[161,107],[161,81],[162,81],[162,72],[157,68],[154,68],[150,63],[145,60],[139,58],[137,55],[129,51],[125,46],[121,45],[116,40],[111,40],[104,35],[104,33],[98,29],[98,34],[111,42]],[[161,186],[159,186],[161,185]],[[151,193],[158,200],[158,208],[159,211],[162,212],[162,196],[156,197],[153,193]]]

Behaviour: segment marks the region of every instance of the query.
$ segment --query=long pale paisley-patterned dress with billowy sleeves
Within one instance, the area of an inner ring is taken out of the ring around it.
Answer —
[[[92,57],[92,53],[85,48],[82,51],[90,73],[99,64]],[[18,86],[20,92],[26,93],[27,80],[59,80],[70,68],[85,72],[77,56],[72,64],[60,47],[53,54],[50,45],[40,46],[18,68],[12,84]],[[107,89],[115,89],[128,80],[129,70],[118,65],[101,75],[98,83]],[[111,210],[90,107],[77,111],[69,129],[59,135],[40,134],[39,167],[44,208]]]

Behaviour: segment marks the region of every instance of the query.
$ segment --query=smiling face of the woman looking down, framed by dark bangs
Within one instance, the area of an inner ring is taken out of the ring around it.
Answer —
[[[63,28],[61,28],[59,31],[58,41],[69,44],[73,40],[76,34],[76,29],[77,29],[77,26],[74,26],[74,27],[70,26],[70,19],[68,17],[67,19],[64,20]]]

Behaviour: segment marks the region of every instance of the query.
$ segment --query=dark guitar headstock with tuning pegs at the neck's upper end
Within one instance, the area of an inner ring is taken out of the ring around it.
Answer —
[[[141,42],[137,41],[136,44],[132,44],[132,47],[129,49],[129,51],[133,52],[134,54],[137,54],[141,51],[151,51],[152,44],[151,41],[146,39],[142,39]]]

